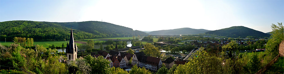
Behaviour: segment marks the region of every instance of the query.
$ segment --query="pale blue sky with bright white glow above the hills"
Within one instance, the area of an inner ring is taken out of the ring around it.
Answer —
[[[245,26],[267,33],[284,21],[284,0],[0,0],[0,21],[13,20],[103,21],[141,31]]]

